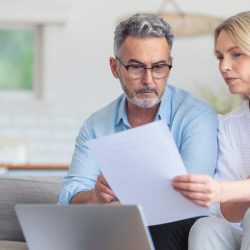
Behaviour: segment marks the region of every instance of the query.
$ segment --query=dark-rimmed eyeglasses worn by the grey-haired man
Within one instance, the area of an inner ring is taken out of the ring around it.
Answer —
[[[121,63],[121,65],[128,71],[129,76],[132,79],[140,79],[143,76],[145,76],[146,71],[148,69],[152,72],[152,77],[155,79],[161,79],[168,75],[170,69],[172,68],[172,65],[166,64],[166,63],[158,63],[153,65],[150,68],[147,68],[143,64],[124,64],[119,57],[116,57],[116,59]]]

